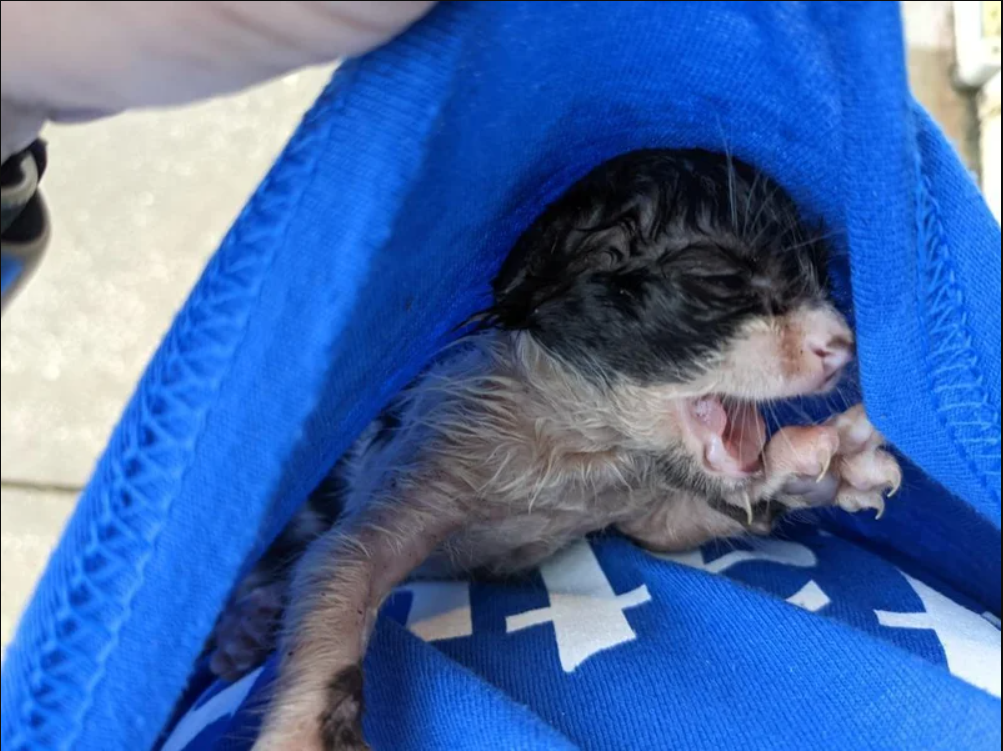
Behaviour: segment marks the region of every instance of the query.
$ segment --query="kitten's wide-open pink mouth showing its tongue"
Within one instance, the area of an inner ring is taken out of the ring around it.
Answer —
[[[703,445],[708,469],[745,476],[759,469],[766,424],[752,402],[717,395],[686,401],[690,429]]]

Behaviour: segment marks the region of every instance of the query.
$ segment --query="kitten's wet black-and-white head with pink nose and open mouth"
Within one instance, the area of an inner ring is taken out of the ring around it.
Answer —
[[[491,318],[608,394],[628,442],[681,441],[709,473],[741,477],[765,440],[756,403],[828,391],[852,359],[826,256],[821,233],[747,164],[635,151],[523,235]]]

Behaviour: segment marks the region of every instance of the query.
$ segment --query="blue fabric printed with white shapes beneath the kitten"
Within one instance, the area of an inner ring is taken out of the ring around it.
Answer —
[[[996,748],[998,621],[852,542],[785,531],[663,558],[596,539],[519,584],[401,588],[366,665],[367,737],[377,751]],[[270,663],[199,686],[160,751],[249,751],[273,677]]]

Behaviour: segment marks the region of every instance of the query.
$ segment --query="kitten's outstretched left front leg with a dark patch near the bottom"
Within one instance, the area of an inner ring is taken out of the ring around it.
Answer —
[[[275,694],[254,751],[362,751],[362,660],[383,600],[452,533],[452,507],[384,500],[317,539],[297,566]]]

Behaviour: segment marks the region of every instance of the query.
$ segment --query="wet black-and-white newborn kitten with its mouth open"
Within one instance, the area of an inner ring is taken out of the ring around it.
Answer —
[[[419,569],[520,572],[610,527],[681,550],[790,508],[881,511],[901,473],[860,407],[768,443],[757,408],[832,389],[852,360],[818,238],[768,177],[696,150],[625,154],[549,207],[483,326],[359,438],[221,619],[221,676],[283,650],[256,751],[366,748],[368,637]]]

